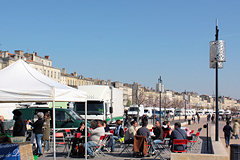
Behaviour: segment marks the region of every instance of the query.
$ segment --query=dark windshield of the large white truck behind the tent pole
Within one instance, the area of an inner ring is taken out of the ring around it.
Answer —
[[[75,102],[74,111],[80,115],[85,114],[85,102]],[[87,101],[87,115],[103,115],[102,101]]]

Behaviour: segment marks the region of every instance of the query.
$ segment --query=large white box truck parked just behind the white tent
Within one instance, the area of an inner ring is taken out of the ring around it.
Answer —
[[[123,120],[123,92],[120,89],[102,85],[79,86],[78,89],[87,94],[88,119],[106,120],[107,122]],[[85,102],[75,102],[73,110],[83,116]]]

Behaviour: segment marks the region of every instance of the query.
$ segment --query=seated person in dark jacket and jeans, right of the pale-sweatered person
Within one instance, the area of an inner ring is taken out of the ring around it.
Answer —
[[[114,134],[111,137],[109,144],[108,144],[111,147],[111,152],[114,152],[114,150],[115,150],[115,141],[120,140],[121,138],[124,137],[124,129],[122,127],[122,122],[120,120],[117,120],[116,125],[117,126],[114,130]]]

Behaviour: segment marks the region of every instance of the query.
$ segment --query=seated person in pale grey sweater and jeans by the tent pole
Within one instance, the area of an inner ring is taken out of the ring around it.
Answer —
[[[88,138],[87,142],[87,153],[90,157],[95,157],[91,147],[97,146],[101,136],[105,135],[105,130],[103,127],[103,122],[101,120],[97,121],[97,128],[89,131],[91,136]],[[85,147],[85,145],[83,145]]]

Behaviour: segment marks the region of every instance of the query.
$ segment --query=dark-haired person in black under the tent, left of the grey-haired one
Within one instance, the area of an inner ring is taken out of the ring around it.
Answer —
[[[22,112],[19,110],[14,110],[13,119],[15,120],[13,126],[13,136],[25,136],[26,134],[26,123],[22,119]]]

